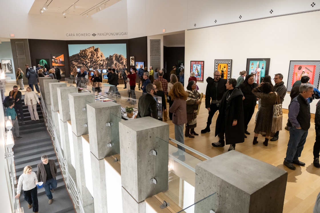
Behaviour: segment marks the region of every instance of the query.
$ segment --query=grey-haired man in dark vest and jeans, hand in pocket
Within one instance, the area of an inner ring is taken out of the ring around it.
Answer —
[[[299,161],[303,146],[306,142],[308,129],[310,128],[310,104],[308,98],[313,94],[312,84],[301,84],[300,94],[293,98],[289,105],[289,121],[287,126],[290,131],[287,154],[283,164],[289,169],[295,170],[293,164],[305,166]]]

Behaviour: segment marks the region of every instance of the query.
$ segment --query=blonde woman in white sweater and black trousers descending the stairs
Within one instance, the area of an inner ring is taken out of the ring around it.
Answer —
[[[17,195],[14,198],[20,197],[21,185],[23,185],[24,200],[28,202],[28,208],[33,207],[33,212],[38,213],[38,190],[36,184],[38,179],[36,173],[32,171],[31,166],[26,166],[23,169],[23,173],[19,178],[17,185]]]

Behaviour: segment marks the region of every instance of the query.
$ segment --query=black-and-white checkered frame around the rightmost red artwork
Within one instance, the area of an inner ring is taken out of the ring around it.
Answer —
[[[318,88],[319,75],[320,75],[320,61],[290,61],[289,75],[288,75],[288,81],[287,81],[287,91],[288,92],[291,92],[291,89],[292,89],[291,84],[292,84],[294,65],[316,65],[315,79],[313,80],[313,86],[315,88]]]

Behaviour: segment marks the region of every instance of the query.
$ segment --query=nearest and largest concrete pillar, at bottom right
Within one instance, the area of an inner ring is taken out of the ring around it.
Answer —
[[[215,212],[282,212],[288,173],[237,151],[226,152],[196,165],[195,202],[208,202]],[[195,212],[207,212],[197,205]]]

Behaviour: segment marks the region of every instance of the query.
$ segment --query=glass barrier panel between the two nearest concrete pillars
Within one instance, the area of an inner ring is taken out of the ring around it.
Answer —
[[[163,192],[164,200],[174,202],[180,209],[191,206],[194,204],[196,164],[202,161],[182,147],[177,148],[158,137],[156,141],[168,147],[168,190]]]

